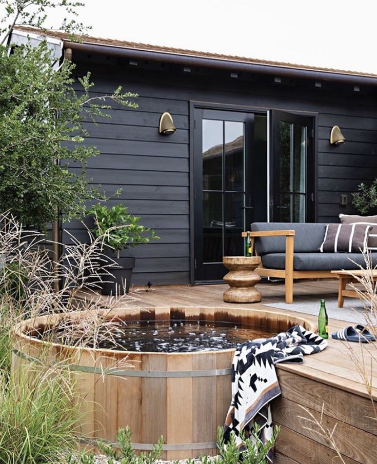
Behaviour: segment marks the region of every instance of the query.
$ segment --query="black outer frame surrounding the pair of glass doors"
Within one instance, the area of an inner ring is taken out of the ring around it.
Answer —
[[[286,111],[288,113],[300,114],[302,116],[309,116],[313,118],[314,127],[314,221],[318,217],[318,117],[319,113],[311,111],[300,111],[292,108],[271,108],[264,106],[244,106],[244,105],[229,105],[222,103],[213,102],[201,102],[196,100],[190,100],[189,102],[189,236],[190,236],[190,284],[195,284],[195,253],[194,253],[194,110],[196,108],[208,109],[208,110],[223,110],[223,111],[236,111],[243,113],[259,113],[267,115],[267,156],[268,166],[270,163],[271,147],[270,143],[270,121],[271,121],[271,110],[276,109],[280,111]],[[268,182],[270,173],[267,173]],[[268,186],[268,191],[270,190]],[[268,208],[268,215],[270,215],[270,208]]]

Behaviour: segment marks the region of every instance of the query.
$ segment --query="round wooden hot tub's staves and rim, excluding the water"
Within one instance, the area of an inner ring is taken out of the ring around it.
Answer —
[[[271,334],[308,320],[289,314],[238,308],[158,307],[113,310],[109,318],[121,320],[229,321],[256,326]],[[26,320],[15,330],[12,369],[32,362],[46,343],[27,335],[30,329],[54,324],[59,316]],[[30,333],[30,332],[29,332]],[[133,367],[118,365],[125,351],[78,349],[49,344],[49,356],[70,356],[76,391],[85,417],[82,433],[89,439],[114,440],[118,428],[129,425],[134,448],[150,450],[161,435],[163,459],[216,454],[216,429],[224,424],[231,396],[230,366],[234,349],[191,352],[129,352]],[[103,367],[112,369],[105,371]]]

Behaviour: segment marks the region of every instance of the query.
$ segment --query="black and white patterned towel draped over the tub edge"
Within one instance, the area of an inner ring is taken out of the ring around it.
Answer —
[[[327,347],[327,340],[302,326],[294,326],[272,338],[247,341],[236,349],[232,362],[232,400],[225,420],[224,438],[234,432],[242,445],[240,432],[251,441],[254,423],[260,426],[263,443],[272,437],[270,401],[281,393],[277,381],[277,362],[304,362],[305,354],[318,353]],[[273,450],[267,455],[272,462]]]

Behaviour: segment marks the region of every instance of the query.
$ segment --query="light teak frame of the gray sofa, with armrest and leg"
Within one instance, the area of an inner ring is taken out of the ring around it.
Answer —
[[[293,270],[293,250],[294,250],[294,230],[268,230],[261,232],[250,232],[252,249],[254,250],[255,237],[285,237],[285,269],[267,269],[261,265],[255,272],[261,277],[279,277],[285,279],[285,302],[293,302],[293,279],[324,279],[334,278],[331,271],[294,271]],[[242,232],[246,237],[246,232]],[[256,256],[257,253],[255,253]]]

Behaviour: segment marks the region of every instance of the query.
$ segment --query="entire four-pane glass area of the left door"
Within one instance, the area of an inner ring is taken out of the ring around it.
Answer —
[[[242,253],[245,123],[203,119],[203,261]]]

